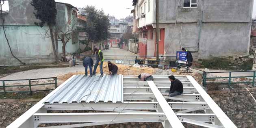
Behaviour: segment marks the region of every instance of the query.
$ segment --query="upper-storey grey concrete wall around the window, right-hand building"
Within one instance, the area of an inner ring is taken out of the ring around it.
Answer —
[[[253,0],[198,0],[197,8],[183,8],[183,0],[159,0],[159,23],[174,23],[178,5],[180,5],[178,22],[198,22],[202,19],[202,11],[204,22],[251,22],[252,20]],[[155,9],[154,4],[154,15]],[[155,23],[154,18],[153,20]]]

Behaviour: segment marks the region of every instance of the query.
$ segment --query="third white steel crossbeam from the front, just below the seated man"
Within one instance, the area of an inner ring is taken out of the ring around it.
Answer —
[[[162,95],[168,95],[169,93],[162,93]],[[153,93],[124,93],[125,100],[152,100],[154,99]],[[199,100],[204,102],[204,99],[200,94],[182,94],[176,95],[175,98],[183,98],[187,100]]]

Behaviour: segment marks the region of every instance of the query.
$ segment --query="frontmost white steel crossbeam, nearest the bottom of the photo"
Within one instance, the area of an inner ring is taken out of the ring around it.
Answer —
[[[167,114],[168,115],[168,114]],[[188,114],[188,113],[178,113],[174,114],[175,118],[178,117],[192,119],[196,121],[213,123],[215,119],[214,114]],[[134,121],[134,122],[152,122],[148,121],[146,118],[154,118],[161,122],[166,120],[166,114],[164,113],[35,113],[33,119],[35,123],[89,123],[89,122],[100,122],[100,121],[112,121],[115,119],[118,120],[128,120],[128,119],[145,119],[143,121]],[[170,120],[171,124],[174,122],[174,119]],[[178,122],[181,124],[180,120]],[[175,123],[174,123],[175,124]],[[29,128],[29,127],[28,127]],[[182,127],[174,127],[182,128]]]

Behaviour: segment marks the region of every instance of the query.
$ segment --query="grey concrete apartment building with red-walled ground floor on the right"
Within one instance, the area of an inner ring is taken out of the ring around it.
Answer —
[[[156,55],[156,0],[133,0],[139,54]],[[253,0],[159,0],[159,53],[198,58],[249,53]]]

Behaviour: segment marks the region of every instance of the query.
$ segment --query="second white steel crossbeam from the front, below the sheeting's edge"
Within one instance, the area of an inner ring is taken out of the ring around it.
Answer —
[[[206,106],[205,102],[168,102],[172,109],[187,110]],[[124,102],[124,103],[81,103],[81,104],[46,104],[47,110],[87,110],[87,108],[109,108],[113,110],[156,110],[158,102]]]

